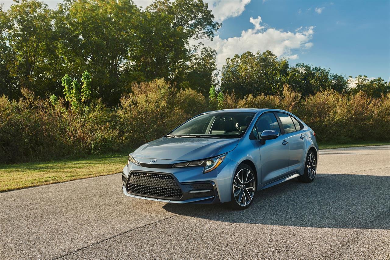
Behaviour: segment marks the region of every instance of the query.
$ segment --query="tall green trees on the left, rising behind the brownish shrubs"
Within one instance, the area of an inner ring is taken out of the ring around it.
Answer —
[[[145,11],[132,0],[65,0],[56,10],[21,0],[0,11],[0,94],[61,95],[65,73],[86,70],[92,98],[110,106],[131,82],[154,78],[208,91],[215,51],[189,42],[212,39],[213,20],[202,0],[156,1]]]

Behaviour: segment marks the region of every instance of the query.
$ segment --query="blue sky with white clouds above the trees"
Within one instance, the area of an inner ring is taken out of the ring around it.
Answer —
[[[44,0],[55,8],[61,0]],[[146,7],[152,0],[135,0]],[[282,1],[204,0],[222,27],[213,41],[225,59],[246,51],[271,50],[289,64],[311,64],[333,73],[390,81],[390,0]],[[0,0],[3,9],[12,0]]]

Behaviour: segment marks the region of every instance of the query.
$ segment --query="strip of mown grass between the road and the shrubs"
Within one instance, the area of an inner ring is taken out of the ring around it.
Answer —
[[[389,142],[319,144],[319,148],[334,149],[389,144]],[[0,192],[119,173],[127,159],[127,155],[105,155],[90,156],[78,160],[0,165]]]

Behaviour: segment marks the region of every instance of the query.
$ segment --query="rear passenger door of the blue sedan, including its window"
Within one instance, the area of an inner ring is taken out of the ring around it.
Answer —
[[[285,135],[289,139],[289,172],[301,171],[305,161],[306,135],[303,133],[303,126],[289,114],[277,112],[280,122],[283,125]]]

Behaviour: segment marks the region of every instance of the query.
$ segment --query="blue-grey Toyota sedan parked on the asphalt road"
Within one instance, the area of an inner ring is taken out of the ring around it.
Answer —
[[[248,208],[257,191],[316,177],[315,132],[290,112],[225,109],[199,114],[129,154],[123,194],[169,203]]]

